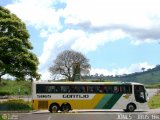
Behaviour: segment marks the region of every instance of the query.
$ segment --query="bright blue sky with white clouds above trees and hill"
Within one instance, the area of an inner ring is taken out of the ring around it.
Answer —
[[[89,59],[90,74],[123,75],[160,64],[159,0],[0,0],[25,22],[42,80],[64,50]]]

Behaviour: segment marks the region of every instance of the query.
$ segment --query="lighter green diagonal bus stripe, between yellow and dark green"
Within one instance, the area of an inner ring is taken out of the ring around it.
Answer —
[[[96,109],[102,109],[105,104],[111,99],[113,94],[106,94],[104,97],[100,100],[100,102],[96,105]]]

